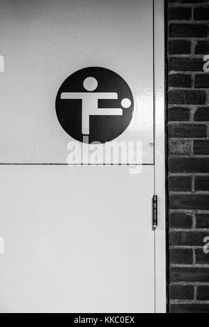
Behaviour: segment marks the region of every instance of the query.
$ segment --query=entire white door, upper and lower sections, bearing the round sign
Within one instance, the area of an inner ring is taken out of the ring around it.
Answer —
[[[155,312],[153,0],[0,18],[0,312]]]

